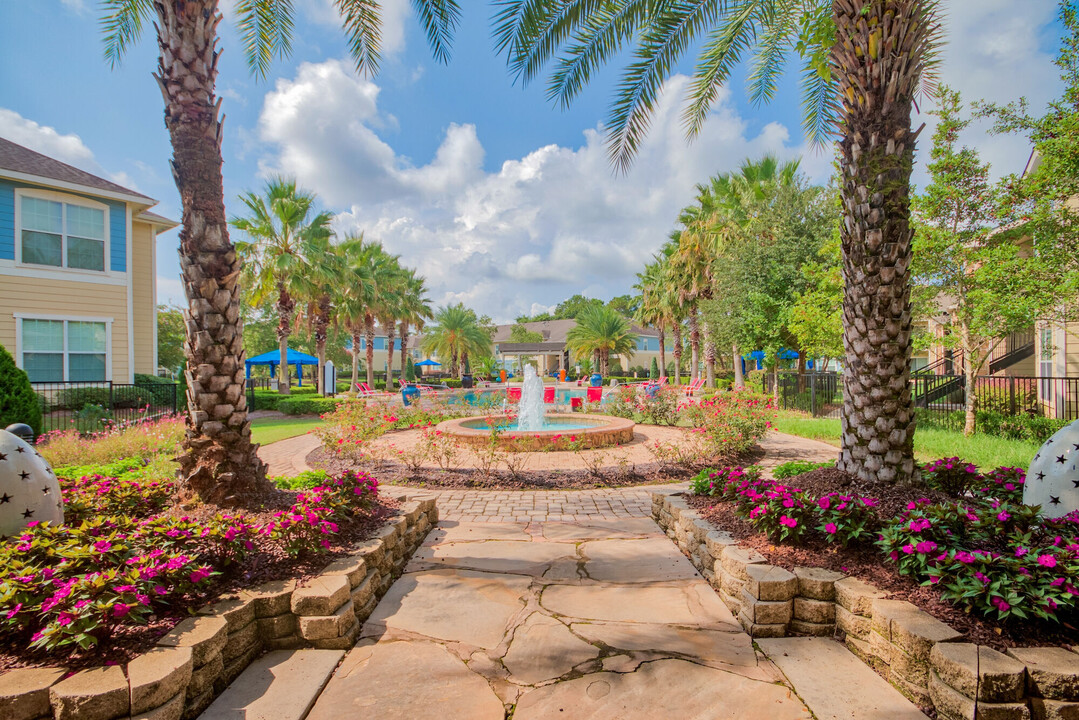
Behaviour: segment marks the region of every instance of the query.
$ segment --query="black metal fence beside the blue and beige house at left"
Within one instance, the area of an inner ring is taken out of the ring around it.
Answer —
[[[41,403],[42,433],[93,433],[172,415],[179,409],[177,383],[33,382]]]

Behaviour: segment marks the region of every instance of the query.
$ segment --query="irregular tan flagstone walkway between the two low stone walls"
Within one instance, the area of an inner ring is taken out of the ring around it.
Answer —
[[[810,718],[648,518],[441,521],[310,720]]]

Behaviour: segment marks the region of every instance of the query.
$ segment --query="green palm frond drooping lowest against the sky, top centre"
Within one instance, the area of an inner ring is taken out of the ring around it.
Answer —
[[[726,0],[670,2],[651,19],[638,44],[637,60],[618,84],[609,126],[607,153],[626,172],[651,124],[652,111],[674,64],[706,28],[718,22]]]

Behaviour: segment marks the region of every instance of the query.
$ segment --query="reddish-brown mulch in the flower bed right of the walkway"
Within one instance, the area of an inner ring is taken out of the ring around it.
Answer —
[[[809,489],[807,484],[802,481],[809,474],[790,478],[791,484]],[[793,481],[795,479],[797,483]],[[838,489],[834,487],[831,489],[831,491],[835,490]],[[857,489],[855,491],[861,492]],[[904,505],[910,502],[911,498],[911,490],[906,489],[905,492]],[[928,492],[932,491],[919,488],[917,497],[932,497],[927,494]],[[879,493],[866,492],[865,494],[877,497]],[[1079,628],[1077,628],[1079,619],[1071,619],[1070,624],[1057,625],[1039,620],[1000,622],[975,617],[947,600],[941,599],[940,593],[934,587],[919,585],[914,580],[899,574],[894,566],[888,562],[880,551],[873,545],[841,547],[819,538],[809,538],[803,545],[798,546],[777,545],[768,540],[767,535],[759,532],[749,522],[735,515],[734,503],[691,494],[685,495],[685,499],[709,522],[730,533],[740,545],[752,547],[761,553],[771,565],[787,570],[791,570],[795,566],[824,568],[853,575],[887,590],[890,593],[890,597],[897,600],[906,600],[933,617],[947,623],[966,635],[970,642],[988,646],[1000,651],[1015,647],[1073,646],[1079,642]]]

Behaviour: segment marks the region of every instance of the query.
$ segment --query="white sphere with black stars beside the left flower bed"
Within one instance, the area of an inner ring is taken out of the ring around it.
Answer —
[[[0,430],[0,539],[14,535],[35,520],[64,521],[60,484],[40,452]]]

